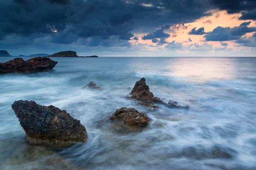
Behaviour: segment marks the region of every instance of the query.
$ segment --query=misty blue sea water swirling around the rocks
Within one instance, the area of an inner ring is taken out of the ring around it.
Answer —
[[[0,75],[1,170],[256,169],[256,58],[52,59],[58,61],[52,71]],[[190,109],[126,99],[142,77],[154,96]],[[91,80],[103,90],[83,89]],[[27,144],[11,108],[20,99],[66,110],[86,127],[88,141],[67,148]],[[109,117],[122,107],[146,113],[148,127],[117,131]]]

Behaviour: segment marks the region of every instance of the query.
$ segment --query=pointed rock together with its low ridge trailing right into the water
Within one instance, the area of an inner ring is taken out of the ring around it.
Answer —
[[[158,106],[154,105],[154,103],[159,103],[159,104],[166,105],[167,107],[170,107],[170,108],[185,108],[185,109],[189,108],[189,106],[177,105],[178,103],[172,100],[170,100],[167,104],[163,102],[162,99],[158,97],[154,97],[154,94],[151,91],[149,91],[149,86],[146,85],[145,81],[146,80],[144,77],[139,81],[137,81],[134,85],[134,88],[131,91],[131,95],[132,95],[131,98],[135,100],[139,100],[140,105],[159,108]]]

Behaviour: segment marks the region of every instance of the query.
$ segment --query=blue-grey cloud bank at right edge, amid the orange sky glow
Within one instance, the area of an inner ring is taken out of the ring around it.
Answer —
[[[240,26],[236,26],[233,28],[230,27],[221,27],[218,26],[214,30],[208,32],[204,35],[206,41],[229,41],[229,40],[238,40],[241,36],[246,33],[256,31],[256,27],[248,27],[250,25],[249,22],[241,23]]]

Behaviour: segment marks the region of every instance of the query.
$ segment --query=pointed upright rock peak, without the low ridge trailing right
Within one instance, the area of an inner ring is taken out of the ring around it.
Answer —
[[[154,94],[149,91],[149,87],[146,85],[145,81],[146,80],[143,77],[135,83],[134,88],[131,91],[131,98],[150,105],[154,105],[154,102],[160,102],[161,99],[154,97]]]

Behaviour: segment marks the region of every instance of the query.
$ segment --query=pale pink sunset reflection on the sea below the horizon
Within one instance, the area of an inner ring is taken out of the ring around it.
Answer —
[[[175,63],[169,62],[169,75],[188,77],[191,81],[233,79],[236,76],[235,62],[225,58],[178,59]]]

